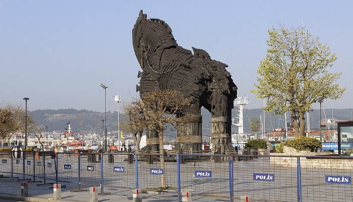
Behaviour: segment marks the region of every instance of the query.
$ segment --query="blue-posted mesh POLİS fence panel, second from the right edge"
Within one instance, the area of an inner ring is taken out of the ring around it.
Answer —
[[[281,166],[279,162],[285,162],[285,165]],[[297,158],[237,155],[233,165],[234,198],[249,196],[255,201],[298,201]]]

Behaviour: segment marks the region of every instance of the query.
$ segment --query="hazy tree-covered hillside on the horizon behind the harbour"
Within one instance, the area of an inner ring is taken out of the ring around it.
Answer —
[[[339,120],[350,120],[352,109],[333,109],[333,117]],[[67,122],[71,122],[72,127],[76,133],[81,132],[81,121],[83,121],[84,133],[95,132],[101,133],[102,119],[104,119],[103,112],[94,112],[89,110],[76,109],[60,109],[60,110],[35,110],[29,112],[39,126],[48,126],[49,131],[61,130],[64,131]],[[205,110],[201,110],[203,122],[202,133],[209,135],[211,132],[211,114]],[[310,113],[311,129],[319,128],[320,111],[314,110]],[[325,109],[327,118],[331,118],[332,109]],[[244,132],[250,133],[250,119],[259,118],[261,109],[245,109],[244,110]],[[236,110],[232,110],[233,117],[236,117]],[[325,118],[324,113],[322,117]],[[126,120],[125,114],[120,115],[121,123]],[[117,113],[107,112],[107,130],[116,130]],[[236,121],[234,121],[236,122]],[[266,113],[265,117],[266,131],[272,131],[274,128],[284,127],[284,116],[273,115]],[[232,132],[236,131],[237,127],[232,127]],[[167,132],[170,135],[175,134],[173,131]]]

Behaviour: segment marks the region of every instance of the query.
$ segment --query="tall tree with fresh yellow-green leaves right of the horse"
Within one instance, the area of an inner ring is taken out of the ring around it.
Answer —
[[[345,90],[335,83],[341,73],[328,71],[337,57],[304,28],[273,28],[268,33],[267,55],[260,62],[252,92],[267,98],[266,111],[278,115],[290,111],[293,129],[300,136],[312,104],[338,99]]]

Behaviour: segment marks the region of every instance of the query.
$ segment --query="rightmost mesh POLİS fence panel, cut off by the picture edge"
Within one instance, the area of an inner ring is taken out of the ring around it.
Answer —
[[[303,201],[353,201],[353,159],[302,157]]]

